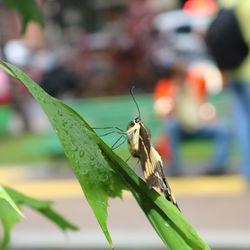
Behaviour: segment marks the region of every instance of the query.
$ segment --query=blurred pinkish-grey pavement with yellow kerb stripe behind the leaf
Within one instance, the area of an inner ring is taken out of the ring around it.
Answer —
[[[12,249],[108,249],[101,229],[70,170],[55,178],[54,168],[6,167],[0,183],[55,201],[54,207],[80,232],[63,234],[24,207],[13,230]],[[54,176],[54,177],[51,177]],[[212,249],[250,249],[250,191],[240,176],[169,178],[179,206]],[[164,249],[129,192],[110,200],[108,227],[115,249]]]

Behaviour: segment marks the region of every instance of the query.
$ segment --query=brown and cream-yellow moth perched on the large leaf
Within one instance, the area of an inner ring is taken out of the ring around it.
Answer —
[[[167,200],[172,202],[179,209],[167,182],[161,156],[152,146],[150,129],[141,121],[140,109],[132,90],[133,88],[130,89],[130,93],[138,109],[139,116],[129,122],[127,127],[126,137],[129,151],[133,157],[139,159],[147,185],[162,193]]]

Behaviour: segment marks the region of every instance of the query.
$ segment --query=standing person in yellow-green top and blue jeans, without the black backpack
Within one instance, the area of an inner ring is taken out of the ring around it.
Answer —
[[[250,183],[250,1],[219,0],[218,3],[222,8],[234,10],[243,39],[248,46],[248,54],[244,60],[239,66],[225,70],[225,75],[232,93],[232,123],[240,148],[240,169],[245,179]],[[234,39],[233,36],[232,39]],[[225,43],[227,42],[225,41]]]

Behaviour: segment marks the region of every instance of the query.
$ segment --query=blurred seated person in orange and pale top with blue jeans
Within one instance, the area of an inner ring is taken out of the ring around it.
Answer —
[[[170,143],[170,172],[181,174],[180,143],[184,138],[213,139],[215,148],[206,174],[226,173],[230,130],[216,120],[214,106],[208,102],[205,81],[189,74],[186,65],[177,61],[155,87],[155,110],[164,119]]]

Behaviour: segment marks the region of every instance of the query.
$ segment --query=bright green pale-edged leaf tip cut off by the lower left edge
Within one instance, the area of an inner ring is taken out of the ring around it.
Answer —
[[[3,225],[3,239],[0,244],[0,249],[8,244],[10,241],[11,228],[18,223],[21,218],[21,211],[5,189],[0,186],[0,220]]]

